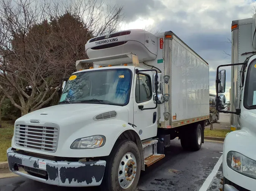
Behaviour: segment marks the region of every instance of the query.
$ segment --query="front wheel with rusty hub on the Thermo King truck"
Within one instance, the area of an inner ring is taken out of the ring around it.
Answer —
[[[137,145],[125,140],[119,142],[107,160],[101,189],[104,191],[133,191],[141,170],[140,151]]]

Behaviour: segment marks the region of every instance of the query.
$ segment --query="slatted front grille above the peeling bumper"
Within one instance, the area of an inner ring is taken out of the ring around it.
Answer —
[[[25,148],[55,152],[58,143],[58,128],[35,125],[16,125],[15,144]]]

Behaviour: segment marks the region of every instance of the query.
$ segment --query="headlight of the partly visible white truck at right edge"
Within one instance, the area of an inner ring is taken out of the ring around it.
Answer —
[[[227,154],[227,164],[229,168],[244,176],[256,179],[256,161],[234,151]]]

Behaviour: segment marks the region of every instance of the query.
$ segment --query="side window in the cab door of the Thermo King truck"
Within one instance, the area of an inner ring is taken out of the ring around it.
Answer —
[[[135,87],[135,100],[137,103],[146,102],[152,98],[152,84],[149,75],[138,74]]]

